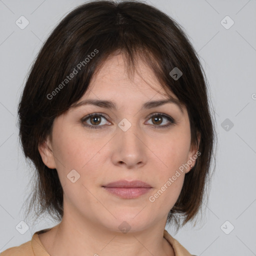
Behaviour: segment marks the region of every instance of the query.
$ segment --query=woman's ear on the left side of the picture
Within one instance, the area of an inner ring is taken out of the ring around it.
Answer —
[[[43,163],[50,169],[55,169],[55,159],[52,151],[51,141],[49,136],[38,145],[38,151],[41,155]]]

